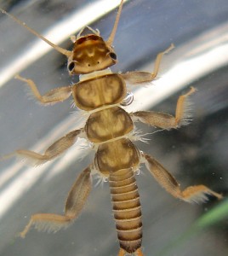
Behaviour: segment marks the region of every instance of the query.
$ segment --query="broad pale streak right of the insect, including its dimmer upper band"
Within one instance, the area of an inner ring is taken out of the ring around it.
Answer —
[[[228,64],[227,53],[227,23],[214,27],[213,30],[193,38],[187,44],[172,49],[168,55],[162,57],[158,79],[152,82],[156,86],[150,84],[142,88],[137,87],[137,94],[134,93],[134,103],[139,102],[138,108],[135,108],[133,103],[128,106],[127,110],[130,112],[151,108],[187,84],[224,67]],[[166,63],[168,63],[167,67],[163,68]],[[140,70],[150,72],[153,70],[153,64],[140,67]],[[163,73],[163,70],[167,72]]]

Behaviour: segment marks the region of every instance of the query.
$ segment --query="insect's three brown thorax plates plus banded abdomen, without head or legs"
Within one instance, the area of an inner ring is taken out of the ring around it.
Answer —
[[[125,82],[118,74],[88,79],[74,86],[73,96],[77,107],[94,112],[88,117],[85,132],[90,142],[100,144],[94,163],[109,177],[120,247],[134,253],[142,238],[140,195],[134,178],[140,153],[125,137],[134,130],[131,116],[117,106],[126,96]]]

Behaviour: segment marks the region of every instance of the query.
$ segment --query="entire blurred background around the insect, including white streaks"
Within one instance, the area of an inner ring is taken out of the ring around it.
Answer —
[[[71,49],[70,35],[82,26],[98,28],[107,39],[119,1],[0,1],[0,7],[52,42]],[[114,9],[114,10],[113,10]],[[150,72],[159,51],[175,44],[162,60],[159,78],[133,89],[128,111],[175,111],[178,96],[191,96],[193,120],[179,130],[147,135],[137,143],[181,184],[203,183],[222,193],[223,201],[187,204],[168,195],[141,166],[137,182],[143,212],[145,255],[225,256],[228,254],[228,4],[226,0],[129,0],[114,40],[118,63],[113,72]],[[57,40],[57,41],[55,41]],[[41,94],[77,82],[66,71],[66,57],[46,48],[22,26],[0,13],[0,156],[18,148],[42,153],[67,132],[80,128],[71,100],[43,107],[27,96],[16,73],[32,79]],[[131,88],[132,89],[132,88]],[[145,133],[155,129],[137,123]],[[83,213],[67,230],[48,234],[31,230],[16,235],[36,212],[62,213],[77,175],[94,152],[78,140],[66,154],[33,168],[20,161],[0,161],[0,255],[114,256],[117,233],[108,183],[94,178]],[[89,152],[88,152],[89,151]]]

